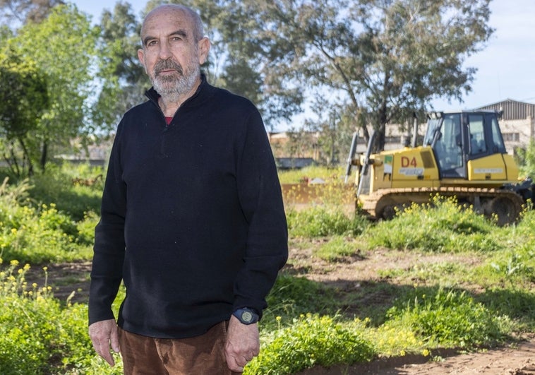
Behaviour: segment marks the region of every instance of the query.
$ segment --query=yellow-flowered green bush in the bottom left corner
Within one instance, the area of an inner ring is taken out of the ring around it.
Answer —
[[[67,317],[50,287],[27,285],[24,275],[30,266],[17,266],[11,261],[0,273],[0,373],[49,374],[72,352],[70,345],[76,345],[78,356],[89,352],[80,332],[73,335],[83,315]]]

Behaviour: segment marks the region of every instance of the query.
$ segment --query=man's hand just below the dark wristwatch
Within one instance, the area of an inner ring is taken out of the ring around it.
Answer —
[[[227,330],[224,354],[227,365],[234,372],[244,372],[244,366],[260,352],[258,323],[243,324],[236,316],[231,316]]]

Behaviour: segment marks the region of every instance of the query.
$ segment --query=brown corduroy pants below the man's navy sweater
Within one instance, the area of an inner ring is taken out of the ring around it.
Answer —
[[[119,328],[125,375],[231,375],[224,356],[227,322],[204,335],[149,338]]]

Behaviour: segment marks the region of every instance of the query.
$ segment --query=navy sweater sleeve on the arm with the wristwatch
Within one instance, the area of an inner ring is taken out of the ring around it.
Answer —
[[[234,284],[234,309],[249,307],[262,316],[265,297],[288,258],[288,235],[277,168],[258,111],[246,124],[236,179],[248,237]]]

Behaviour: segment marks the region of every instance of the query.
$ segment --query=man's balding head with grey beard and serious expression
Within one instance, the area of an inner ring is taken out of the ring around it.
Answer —
[[[181,10],[150,15],[143,25],[143,49],[138,57],[162,97],[187,95],[198,83],[206,59],[205,42],[193,35],[193,20]]]

